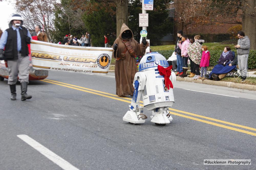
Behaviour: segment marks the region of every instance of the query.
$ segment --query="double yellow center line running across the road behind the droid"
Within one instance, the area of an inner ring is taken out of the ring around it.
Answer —
[[[55,85],[59,85],[59,86],[63,86],[63,87],[72,88],[72,89],[75,89],[75,90],[80,90],[82,92],[87,92],[87,93],[91,93],[91,94],[95,94],[95,95],[99,95],[99,96],[103,96],[103,97],[108,97],[108,98],[123,101],[123,102],[126,102],[126,103],[131,103],[131,98],[127,98],[127,97],[119,97],[119,96],[114,95],[114,94],[110,94],[110,93],[106,93],[106,92],[102,92],[102,91],[98,91],[98,90],[93,90],[93,89],[86,88],[86,87],[76,86],[76,85],[72,85],[72,84],[68,84],[68,83],[57,82],[57,81],[54,81],[54,80],[45,79],[45,80],[41,80],[41,81],[51,83],[51,84],[55,84]],[[143,103],[143,101],[140,101],[140,103]],[[142,104],[140,104],[140,105],[143,106]],[[173,109],[173,108],[169,108],[169,110],[170,110],[170,114],[172,114],[172,115],[176,115],[176,116],[196,120],[196,121],[199,121],[199,122],[204,122],[204,123],[207,123],[207,124],[211,124],[211,125],[214,125],[214,126],[218,126],[218,127],[222,127],[222,128],[226,128],[226,129],[230,129],[230,130],[234,130],[234,131],[238,131],[238,132],[242,132],[242,133],[246,133],[246,134],[256,136],[256,133],[251,132],[251,131],[256,131],[255,128],[251,128],[251,127],[247,127],[247,126],[243,126],[243,125],[240,125],[240,124],[235,124],[235,123],[231,123],[231,122],[227,122],[227,121],[223,121],[223,120],[218,120],[218,119],[214,119],[214,118],[210,118],[210,117],[206,117],[206,116],[201,116],[201,115],[197,115],[197,114],[193,114],[193,113],[190,113],[190,112],[177,110],[177,109]],[[173,111],[175,111],[175,112],[173,112]],[[179,113],[177,113],[177,112],[179,112]],[[182,113],[182,114],[180,114],[180,113]],[[186,115],[184,115],[184,114],[186,114]],[[187,115],[190,115],[190,116],[187,116]],[[191,117],[191,116],[194,116],[194,117]],[[198,117],[198,118],[196,118],[196,117]],[[202,118],[202,119],[199,119],[199,118]],[[206,119],[206,120],[204,120],[204,119]],[[211,120],[211,121],[208,121],[208,120]],[[248,130],[251,130],[251,131],[226,126],[226,125],[215,123],[215,122],[212,122],[212,121],[227,124],[227,125],[231,125],[231,126],[234,126],[234,127],[248,129]]]

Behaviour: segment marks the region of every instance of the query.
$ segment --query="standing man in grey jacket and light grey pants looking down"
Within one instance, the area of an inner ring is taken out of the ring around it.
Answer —
[[[248,57],[250,52],[250,39],[244,35],[243,31],[237,33],[238,41],[235,45],[237,49],[238,67],[242,76],[242,82],[245,81],[247,75]]]

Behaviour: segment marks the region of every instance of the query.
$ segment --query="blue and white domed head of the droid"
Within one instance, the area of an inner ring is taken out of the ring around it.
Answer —
[[[147,71],[157,69],[157,66],[161,65],[164,68],[169,66],[166,58],[158,52],[151,52],[144,55],[140,61],[139,71]]]

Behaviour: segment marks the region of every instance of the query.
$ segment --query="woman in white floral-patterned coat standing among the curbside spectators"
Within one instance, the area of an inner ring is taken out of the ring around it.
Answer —
[[[199,64],[201,60],[201,49],[202,49],[202,44],[205,42],[205,40],[200,39],[201,36],[196,35],[194,37],[195,42],[190,43],[188,46],[188,56],[194,63],[195,69],[196,69],[196,74],[190,74],[189,77],[193,77],[193,79],[197,79],[200,77],[200,70],[199,70]]]

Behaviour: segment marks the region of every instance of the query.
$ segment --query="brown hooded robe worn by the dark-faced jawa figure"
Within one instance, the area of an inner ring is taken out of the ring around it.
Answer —
[[[118,44],[118,48],[116,50],[116,56],[121,58],[121,53],[125,50],[125,45],[122,41],[122,33],[126,30],[130,30],[125,24],[122,25],[120,35],[115,40],[114,44]],[[131,30],[130,30],[131,31]],[[131,31],[132,33],[132,31]],[[132,38],[128,40],[132,46],[132,49],[136,53],[136,55],[143,56],[145,54],[148,43],[144,46],[143,43],[139,44],[136,40]],[[112,55],[114,58],[114,52]],[[133,95],[134,87],[133,87],[133,79],[135,73],[138,72],[136,59],[134,56],[131,56],[129,51],[127,50],[124,58],[118,60],[116,58],[115,61],[115,81],[116,81],[116,94],[121,97],[125,97],[128,95]]]

